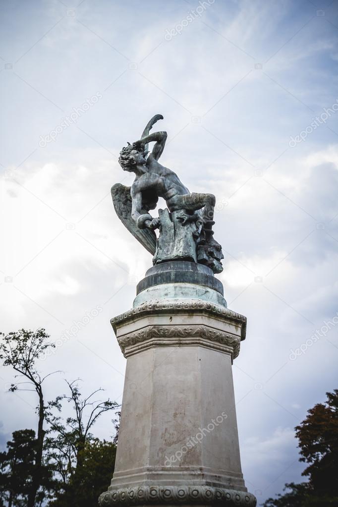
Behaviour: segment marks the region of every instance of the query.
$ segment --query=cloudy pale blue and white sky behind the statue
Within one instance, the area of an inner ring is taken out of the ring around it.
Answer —
[[[119,151],[162,114],[161,163],[215,194],[217,277],[248,319],[233,366],[246,485],[259,504],[301,482],[294,426],[337,387],[336,0],[2,0],[0,14],[1,331],[51,335],[39,369],[62,373],[46,399],[79,378],[121,403],[109,320],[152,258],[110,187],[132,183]],[[0,377],[4,448],[36,427],[36,399]]]

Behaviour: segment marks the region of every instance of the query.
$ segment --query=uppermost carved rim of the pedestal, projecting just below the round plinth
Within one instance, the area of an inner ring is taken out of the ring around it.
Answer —
[[[161,300],[161,301],[153,301],[149,303],[143,303],[132,310],[129,310],[117,317],[114,317],[110,320],[112,328],[116,333],[117,326],[122,322],[127,322],[128,320],[134,320],[137,316],[143,316],[144,314],[154,314],[154,313],[167,313],[170,314],[172,312],[180,313],[180,312],[196,312],[196,313],[204,313],[210,316],[216,316],[218,318],[230,319],[238,323],[241,327],[241,340],[245,339],[246,334],[246,317],[241,315],[240,313],[233,312],[228,308],[223,306],[208,303],[207,301],[202,301],[199,299],[185,299],[180,301],[173,300]]]

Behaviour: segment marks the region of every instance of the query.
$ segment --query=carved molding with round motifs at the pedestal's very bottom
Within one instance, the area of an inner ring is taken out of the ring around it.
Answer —
[[[176,503],[255,507],[256,498],[244,491],[211,486],[140,486],[106,491],[99,496],[100,507]]]

